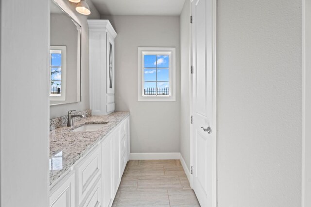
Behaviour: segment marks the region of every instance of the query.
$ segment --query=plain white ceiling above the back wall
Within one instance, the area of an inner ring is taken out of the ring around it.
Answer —
[[[180,15],[185,0],[92,0],[102,15]]]

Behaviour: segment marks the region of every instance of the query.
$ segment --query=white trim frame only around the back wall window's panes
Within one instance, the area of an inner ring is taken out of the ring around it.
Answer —
[[[145,54],[167,54],[170,56],[169,95],[144,95],[144,59]],[[137,101],[176,101],[176,48],[175,47],[138,47]]]

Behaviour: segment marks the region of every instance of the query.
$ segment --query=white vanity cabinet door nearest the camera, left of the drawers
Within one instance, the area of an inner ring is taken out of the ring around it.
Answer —
[[[51,189],[50,207],[75,207],[74,177],[74,172],[70,172]]]

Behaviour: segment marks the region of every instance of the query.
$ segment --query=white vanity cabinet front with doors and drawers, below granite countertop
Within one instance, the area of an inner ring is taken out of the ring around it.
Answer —
[[[129,117],[80,158],[50,191],[50,207],[111,207],[129,160]]]

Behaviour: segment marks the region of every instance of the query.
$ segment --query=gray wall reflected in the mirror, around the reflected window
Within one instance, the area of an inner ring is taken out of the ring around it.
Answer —
[[[51,14],[50,45],[66,46],[66,101],[50,101],[50,104],[77,102],[77,44],[77,26],[70,17]]]

